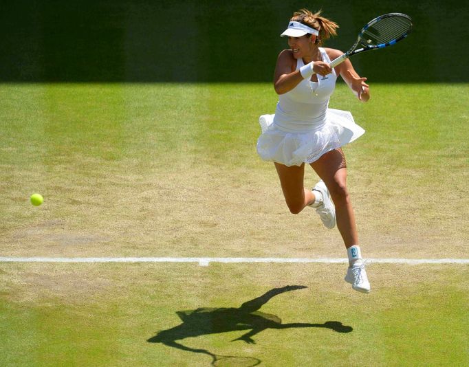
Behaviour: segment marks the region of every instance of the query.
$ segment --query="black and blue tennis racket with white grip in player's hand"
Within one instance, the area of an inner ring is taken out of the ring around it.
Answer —
[[[343,63],[350,56],[360,54],[360,52],[370,51],[371,49],[381,49],[395,45],[397,42],[406,38],[412,30],[412,19],[410,16],[402,13],[389,13],[369,21],[360,33],[356,43],[342,56],[335,58],[329,64],[336,67]]]

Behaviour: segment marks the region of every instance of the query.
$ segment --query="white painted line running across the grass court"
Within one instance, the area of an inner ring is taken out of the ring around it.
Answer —
[[[1,257],[0,263],[347,263],[347,258],[46,258]],[[380,264],[469,264],[468,258],[367,258],[367,263]]]

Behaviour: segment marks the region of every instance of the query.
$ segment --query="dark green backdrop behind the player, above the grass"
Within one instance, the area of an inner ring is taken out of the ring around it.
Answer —
[[[468,82],[469,6],[460,0],[3,1],[2,82],[272,80],[294,10],[323,9],[346,50],[386,12],[414,20],[402,43],[352,59],[373,82]]]

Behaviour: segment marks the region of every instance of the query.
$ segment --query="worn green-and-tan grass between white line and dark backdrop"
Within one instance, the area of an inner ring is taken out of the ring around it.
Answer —
[[[360,104],[339,85],[331,104],[367,130],[345,148],[364,253],[467,257],[468,86],[371,87]],[[314,212],[287,211],[257,157],[272,85],[3,85],[0,97],[3,255],[343,256]]]

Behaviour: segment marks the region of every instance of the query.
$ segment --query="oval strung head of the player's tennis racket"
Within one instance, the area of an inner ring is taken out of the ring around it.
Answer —
[[[379,45],[399,40],[411,30],[410,19],[403,16],[389,16],[374,23],[362,32],[362,38],[367,44]],[[371,42],[370,42],[371,41]]]

